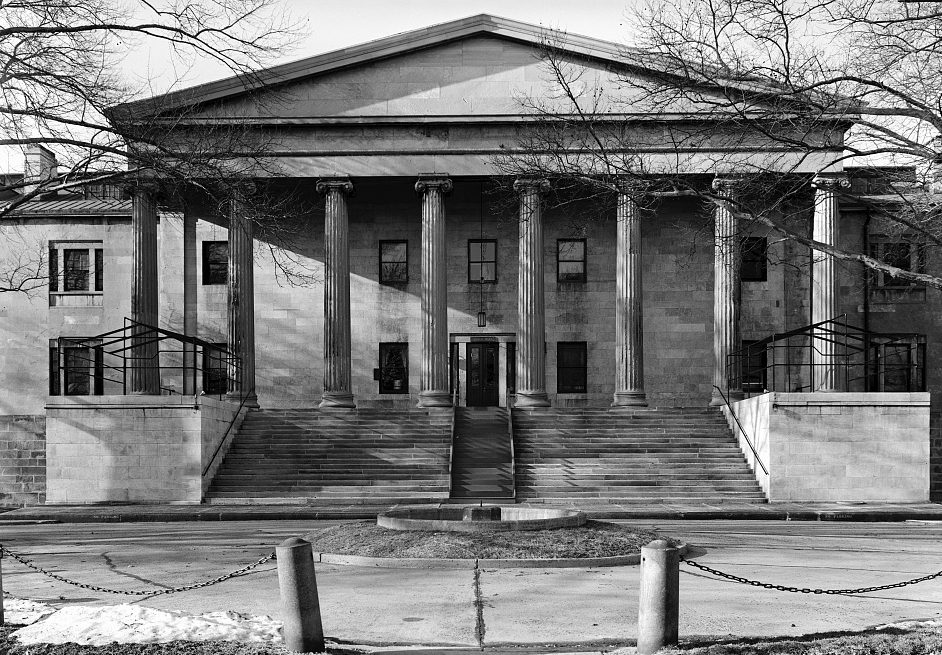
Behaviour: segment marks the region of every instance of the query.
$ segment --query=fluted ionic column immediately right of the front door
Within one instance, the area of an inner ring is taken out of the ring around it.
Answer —
[[[543,216],[540,194],[549,182],[519,179],[517,254],[517,398],[515,407],[549,407],[546,396],[546,308],[543,298]]]

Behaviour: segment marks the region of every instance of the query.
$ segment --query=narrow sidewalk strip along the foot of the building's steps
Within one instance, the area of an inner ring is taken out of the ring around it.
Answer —
[[[78,505],[0,509],[3,521],[118,523],[142,521],[253,521],[375,518],[399,505],[336,504],[310,499],[296,505]],[[428,506],[428,505],[426,505]],[[527,503],[520,506],[526,507]],[[550,505],[535,504],[534,507]],[[572,502],[552,507],[580,509],[600,519],[907,521],[942,520],[942,503],[728,503],[614,504]]]

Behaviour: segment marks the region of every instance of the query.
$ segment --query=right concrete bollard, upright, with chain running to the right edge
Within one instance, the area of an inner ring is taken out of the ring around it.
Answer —
[[[680,610],[680,549],[663,539],[641,547],[638,655],[677,643]]]

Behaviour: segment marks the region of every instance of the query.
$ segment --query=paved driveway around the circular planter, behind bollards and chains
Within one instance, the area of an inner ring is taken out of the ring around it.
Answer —
[[[940,568],[942,524],[632,521],[677,536],[697,561],[744,577],[810,587],[902,581]],[[330,522],[110,523],[3,526],[3,541],[60,575],[120,589],[180,585],[239,568],[288,536]],[[424,571],[320,565],[325,633],[350,644],[513,645],[599,650],[636,637],[638,567]],[[202,613],[278,616],[275,567],[159,597],[102,595],[3,561],[3,586],[55,605],[141,603]],[[942,617],[942,580],[858,596],[814,596],[681,574],[685,640],[860,630]]]

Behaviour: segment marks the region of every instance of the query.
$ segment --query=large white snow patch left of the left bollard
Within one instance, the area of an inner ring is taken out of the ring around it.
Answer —
[[[193,615],[138,605],[66,607],[12,634],[22,644],[88,646],[156,644],[168,641],[282,643],[281,622],[236,612]]]

